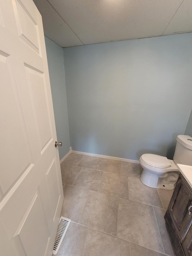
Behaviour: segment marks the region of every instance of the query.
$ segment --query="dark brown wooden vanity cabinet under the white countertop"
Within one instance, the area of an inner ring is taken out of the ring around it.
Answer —
[[[165,214],[166,227],[176,256],[192,256],[191,205],[192,188],[180,173]]]

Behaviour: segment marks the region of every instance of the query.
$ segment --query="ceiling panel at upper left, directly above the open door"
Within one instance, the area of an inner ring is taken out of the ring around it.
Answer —
[[[61,47],[82,45],[82,42],[70,29],[47,0],[34,0],[41,13],[44,34]]]

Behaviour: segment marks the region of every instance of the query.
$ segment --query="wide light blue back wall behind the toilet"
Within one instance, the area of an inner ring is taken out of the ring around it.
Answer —
[[[173,158],[192,107],[192,33],[64,48],[72,150]]]

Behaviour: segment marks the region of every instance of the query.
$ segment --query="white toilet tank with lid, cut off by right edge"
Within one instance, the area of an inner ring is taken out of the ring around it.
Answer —
[[[173,160],[175,164],[192,165],[192,137],[188,135],[177,136]]]

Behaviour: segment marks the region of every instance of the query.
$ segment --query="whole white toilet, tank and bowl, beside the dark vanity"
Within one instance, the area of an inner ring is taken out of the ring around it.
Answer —
[[[143,154],[139,162],[143,167],[140,176],[143,184],[151,188],[172,190],[179,176],[176,164],[192,165],[192,137],[177,136],[173,160],[161,155]]]

